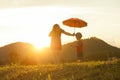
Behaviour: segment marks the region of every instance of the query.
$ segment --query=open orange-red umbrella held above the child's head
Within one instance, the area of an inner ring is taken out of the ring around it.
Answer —
[[[69,27],[82,28],[87,26],[87,22],[79,18],[69,18],[63,21],[63,24]]]

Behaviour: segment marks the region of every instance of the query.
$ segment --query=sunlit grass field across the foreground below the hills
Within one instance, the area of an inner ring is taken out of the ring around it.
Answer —
[[[119,75],[120,59],[0,67],[0,80],[120,80]]]

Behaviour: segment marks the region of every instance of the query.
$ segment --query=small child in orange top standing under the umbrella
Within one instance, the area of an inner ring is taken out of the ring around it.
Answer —
[[[82,34],[80,32],[76,33],[76,52],[78,61],[83,61],[83,42],[81,40]]]

